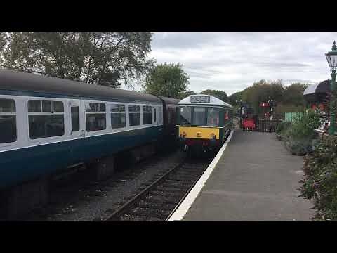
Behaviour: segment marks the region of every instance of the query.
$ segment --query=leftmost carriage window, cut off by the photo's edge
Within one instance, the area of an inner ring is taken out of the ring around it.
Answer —
[[[15,101],[0,98],[0,144],[14,141],[16,141]]]

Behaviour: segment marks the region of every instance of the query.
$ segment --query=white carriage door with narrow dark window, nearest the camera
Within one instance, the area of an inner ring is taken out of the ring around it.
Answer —
[[[69,103],[70,111],[70,136],[72,138],[84,137],[83,107],[79,100],[73,100]]]

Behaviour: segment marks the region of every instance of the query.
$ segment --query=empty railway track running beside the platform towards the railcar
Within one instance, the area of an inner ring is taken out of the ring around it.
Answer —
[[[208,167],[211,159],[186,158],[167,171],[105,221],[166,221]]]

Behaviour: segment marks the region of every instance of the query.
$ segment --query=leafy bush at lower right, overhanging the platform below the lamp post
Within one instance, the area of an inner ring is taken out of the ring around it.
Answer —
[[[337,220],[337,137],[329,136],[306,155],[304,176],[300,181],[301,197],[311,200],[316,218]]]

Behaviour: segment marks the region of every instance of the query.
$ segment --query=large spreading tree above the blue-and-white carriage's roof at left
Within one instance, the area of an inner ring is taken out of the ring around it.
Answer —
[[[118,87],[153,67],[151,32],[1,32],[0,67]]]

